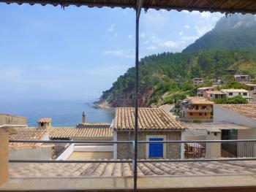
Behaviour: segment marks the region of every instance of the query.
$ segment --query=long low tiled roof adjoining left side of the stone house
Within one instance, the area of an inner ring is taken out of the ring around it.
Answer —
[[[49,129],[50,139],[70,139],[71,137],[113,137],[110,126],[91,126],[88,128],[53,127]]]

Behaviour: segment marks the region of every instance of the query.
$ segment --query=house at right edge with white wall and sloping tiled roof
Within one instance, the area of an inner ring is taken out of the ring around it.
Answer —
[[[222,130],[220,139],[255,139],[256,138],[256,104],[214,104],[214,123],[225,122],[234,123],[243,128],[233,128]],[[222,145],[222,150],[237,157],[255,157],[255,142],[236,143]]]

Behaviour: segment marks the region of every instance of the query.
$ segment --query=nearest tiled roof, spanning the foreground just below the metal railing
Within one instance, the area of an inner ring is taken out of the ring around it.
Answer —
[[[222,161],[189,163],[139,163],[138,176],[193,176],[255,174],[256,161]],[[10,168],[10,177],[127,177],[132,176],[129,163],[26,164]]]

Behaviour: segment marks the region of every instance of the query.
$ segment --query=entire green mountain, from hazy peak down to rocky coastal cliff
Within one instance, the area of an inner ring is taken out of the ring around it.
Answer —
[[[182,53],[161,53],[142,58],[139,70],[139,106],[173,103],[195,96],[195,77],[222,80],[226,88],[245,88],[233,82],[233,74],[256,77],[256,20],[252,15],[221,18],[215,28]],[[135,68],[118,77],[102,93],[99,105],[134,106]]]

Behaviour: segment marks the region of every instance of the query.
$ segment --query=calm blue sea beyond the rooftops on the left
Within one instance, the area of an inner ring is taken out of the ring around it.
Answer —
[[[0,113],[26,117],[29,126],[37,126],[40,118],[52,118],[53,126],[75,126],[82,122],[111,123],[114,110],[94,107],[93,101],[4,101]]]

